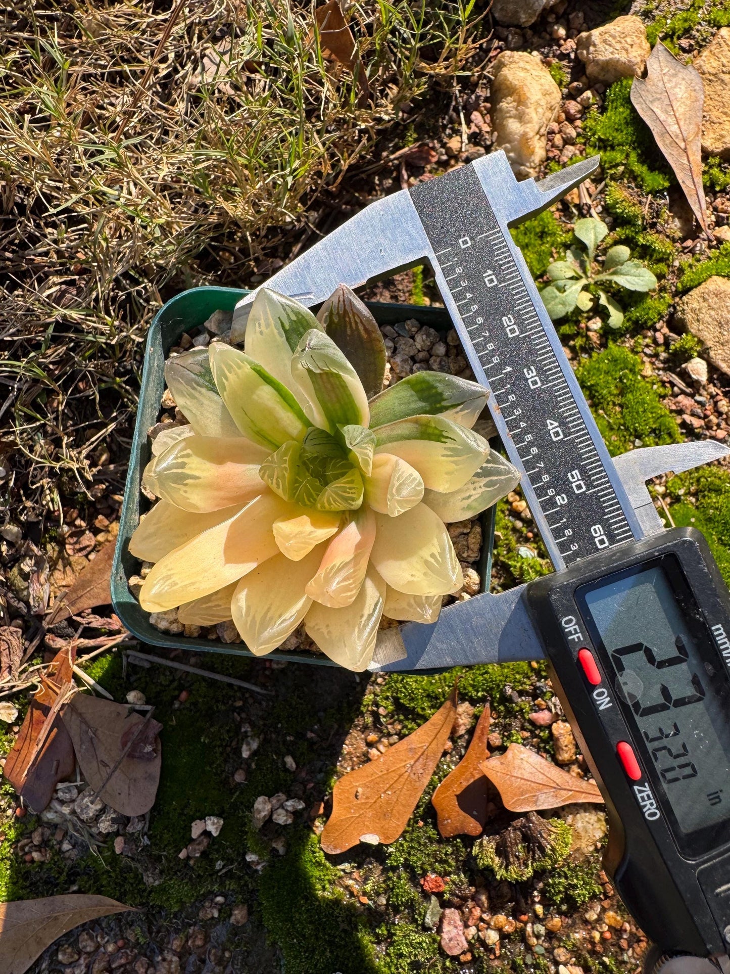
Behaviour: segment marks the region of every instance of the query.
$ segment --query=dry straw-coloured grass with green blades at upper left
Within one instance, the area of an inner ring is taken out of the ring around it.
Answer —
[[[473,54],[473,5],[354,4],[365,104],[323,56],[313,4],[197,0],[171,29],[178,4],[153,0],[3,11],[0,410],[17,431],[0,466],[24,468],[28,499],[53,500],[54,469],[86,490],[124,454],[164,297],[245,280],[306,224],[335,222],[339,181],[399,105]]]

